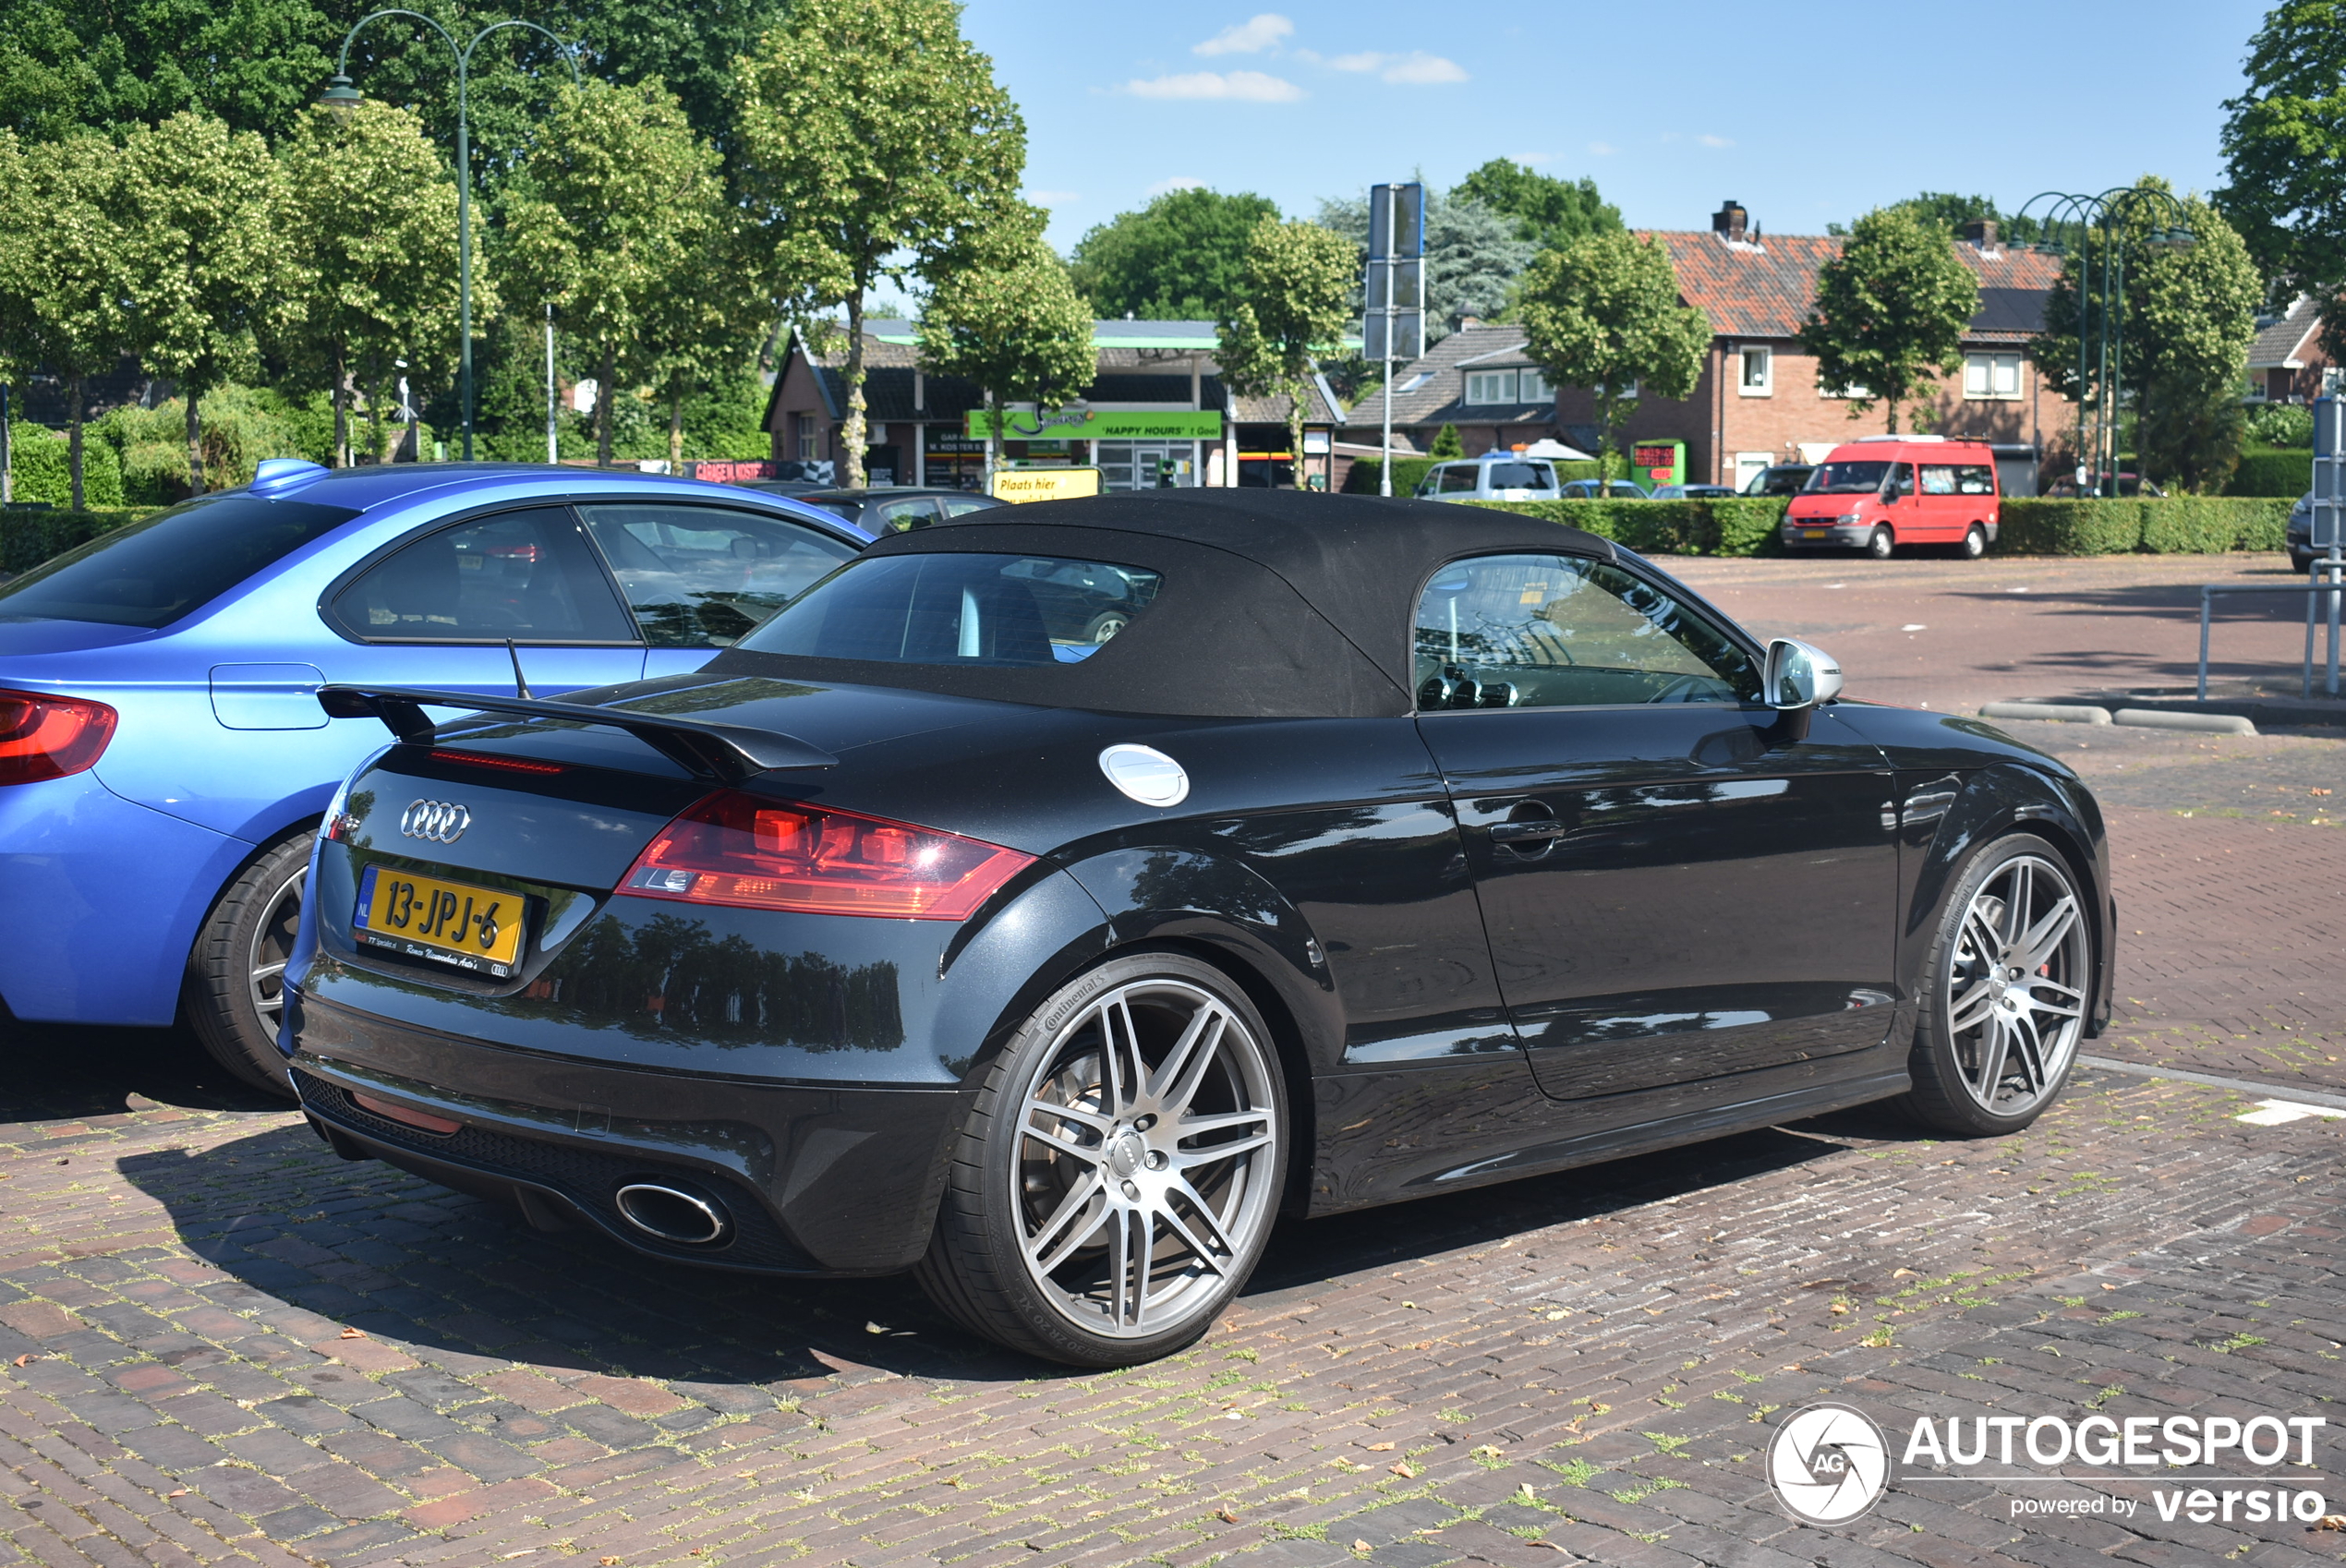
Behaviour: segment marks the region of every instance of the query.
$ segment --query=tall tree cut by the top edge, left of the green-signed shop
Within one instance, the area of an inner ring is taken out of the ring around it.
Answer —
[[[1018,199],[1025,122],[952,0],[795,0],[739,63],[741,190],[781,314],[847,309],[847,485],[863,483],[863,300],[969,263]]]

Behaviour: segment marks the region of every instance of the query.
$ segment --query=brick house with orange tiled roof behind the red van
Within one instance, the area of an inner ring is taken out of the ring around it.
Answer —
[[[1820,462],[1828,450],[1889,429],[1877,403],[1851,417],[1849,401],[1816,384],[1816,359],[1795,342],[1816,302],[1818,270],[1839,255],[1830,234],[1767,234],[1727,202],[1708,232],[1656,232],[1677,270],[1677,295],[1710,319],[1710,349],[1691,398],[1640,398],[1623,436],[1684,441],[1691,483],[1743,488],[1778,462]],[[1980,277],[1980,312],[1964,330],[1964,368],[1928,403],[1928,429],[1996,445],[2008,495],[2036,492],[2036,466],[2062,443],[2069,403],[2029,363],[2027,342],[2060,260],[1996,241],[1975,223],[1954,253]],[[1565,387],[1555,398],[1562,438],[1591,448],[1593,398]]]

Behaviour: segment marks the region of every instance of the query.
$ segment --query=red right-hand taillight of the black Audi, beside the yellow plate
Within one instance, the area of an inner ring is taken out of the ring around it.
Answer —
[[[739,909],[962,921],[1032,863],[955,832],[720,790],[662,827],[619,891]]]

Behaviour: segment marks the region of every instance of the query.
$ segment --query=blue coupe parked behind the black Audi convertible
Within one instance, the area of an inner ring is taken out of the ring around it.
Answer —
[[[284,1095],[312,827],[378,745],[326,722],[321,684],[690,673],[868,541],[645,473],[272,459],[0,584],[0,1015],[185,1015]]]

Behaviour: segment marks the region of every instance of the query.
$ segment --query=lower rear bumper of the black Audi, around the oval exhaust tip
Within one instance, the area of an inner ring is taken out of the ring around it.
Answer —
[[[533,1223],[584,1223],[636,1252],[777,1275],[877,1275],[929,1245],[962,1088],[744,1080],[633,1071],[394,1024],[300,1001],[293,1088],[343,1153],[504,1200]],[[460,1123],[425,1132],[352,1095]],[[732,1233],[708,1247],[631,1226],[619,1186],[711,1193]]]

